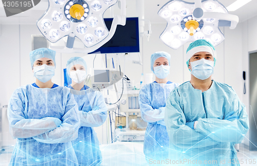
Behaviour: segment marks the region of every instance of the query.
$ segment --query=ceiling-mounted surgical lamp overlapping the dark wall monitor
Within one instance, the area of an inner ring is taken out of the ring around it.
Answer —
[[[48,0],[44,15],[37,21],[41,33],[56,43],[68,36],[66,47],[50,46],[52,50],[64,53],[88,53],[111,39],[117,25],[126,23],[126,0],[120,0],[120,15],[115,15],[108,31],[103,13],[117,3],[117,0]],[[86,48],[73,48],[78,37]]]

